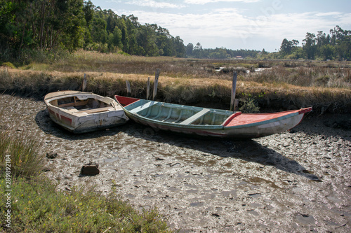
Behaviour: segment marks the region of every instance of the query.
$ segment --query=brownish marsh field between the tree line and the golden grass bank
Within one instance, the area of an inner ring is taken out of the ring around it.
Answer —
[[[40,57],[40,56],[39,56]],[[220,69],[221,68],[221,69]],[[256,68],[272,68],[255,72]],[[21,66],[22,70],[102,72],[153,75],[156,69],[172,78],[212,78],[230,80],[235,71],[244,77],[263,82],[289,83],[307,87],[350,87],[350,62],[311,62],[284,60],[216,60],[176,57],[140,57],[118,53],[79,50],[61,57],[53,55]],[[217,69],[217,71],[216,71]],[[218,71],[220,69],[220,71]],[[247,71],[250,71],[249,73]],[[328,76],[321,79],[321,77]]]

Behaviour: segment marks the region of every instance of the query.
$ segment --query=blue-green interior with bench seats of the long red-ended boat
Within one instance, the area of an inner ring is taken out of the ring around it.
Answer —
[[[135,104],[137,103],[135,102]],[[233,114],[232,111],[166,104],[157,101],[140,102],[130,112],[150,120],[179,125],[222,125]]]

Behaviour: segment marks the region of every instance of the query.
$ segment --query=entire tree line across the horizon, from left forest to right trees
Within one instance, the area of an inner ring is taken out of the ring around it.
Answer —
[[[117,15],[88,0],[1,0],[0,60],[25,61],[33,51],[77,49],[129,55],[206,59],[351,59],[351,31],[339,26],[326,35],[307,32],[302,46],[286,38],[278,52],[186,46],[157,24]]]

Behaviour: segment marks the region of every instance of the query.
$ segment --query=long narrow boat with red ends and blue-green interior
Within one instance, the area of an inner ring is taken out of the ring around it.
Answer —
[[[154,129],[200,136],[253,139],[298,125],[312,108],[279,113],[248,114],[158,101],[114,96],[128,118]]]

